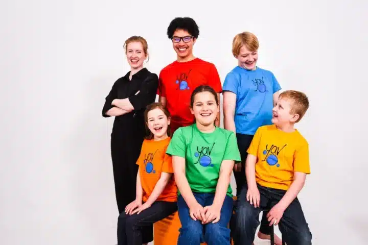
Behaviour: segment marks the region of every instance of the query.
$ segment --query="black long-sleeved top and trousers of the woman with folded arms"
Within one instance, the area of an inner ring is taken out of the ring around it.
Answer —
[[[155,102],[158,77],[147,68],[143,68],[129,80],[130,71],[119,78],[106,96],[102,116],[111,109],[114,99],[129,98],[134,110],[116,116],[111,132],[111,159],[115,183],[116,200],[119,213],[135,199],[136,175],[142,143],[146,134],[144,111],[146,106]],[[136,92],[140,91],[136,94]]]

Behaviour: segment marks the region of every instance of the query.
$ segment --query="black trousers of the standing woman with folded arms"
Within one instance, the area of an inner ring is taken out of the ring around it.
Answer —
[[[137,159],[145,137],[144,119],[124,116],[114,121],[111,133],[111,159],[115,195],[119,214],[135,200]],[[153,232],[144,233],[144,243],[152,240]]]

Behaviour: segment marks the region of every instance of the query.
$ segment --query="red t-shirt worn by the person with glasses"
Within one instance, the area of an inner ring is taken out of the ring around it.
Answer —
[[[160,71],[157,94],[166,97],[172,132],[193,124],[190,97],[200,85],[209,85],[216,92],[222,92],[220,76],[214,64],[195,58],[188,62],[174,61]]]

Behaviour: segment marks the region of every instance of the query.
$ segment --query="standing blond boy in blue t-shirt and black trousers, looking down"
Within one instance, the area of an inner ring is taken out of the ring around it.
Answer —
[[[237,34],[233,39],[233,55],[238,65],[225,78],[223,90],[224,128],[236,133],[242,162],[234,166],[234,177],[239,195],[246,184],[244,164],[247,149],[257,129],[271,125],[272,108],[279,97],[281,86],[273,73],[256,66],[259,42],[249,32]],[[261,239],[270,239],[271,229],[263,213]],[[281,244],[275,236],[275,244]]]

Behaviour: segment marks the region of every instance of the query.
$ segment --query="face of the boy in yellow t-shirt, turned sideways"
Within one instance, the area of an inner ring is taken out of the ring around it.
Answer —
[[[280,97],[277,104],[272,109],[272,123],[277,126],[285,126],[294,123],[298,114],[292,114],[290,100]]]

